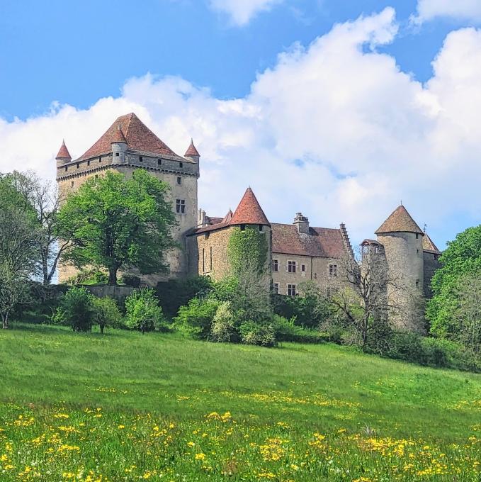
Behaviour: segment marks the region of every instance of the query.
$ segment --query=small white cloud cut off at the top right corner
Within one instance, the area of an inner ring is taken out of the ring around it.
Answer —
[[[481,21],[480,0],[418,0],[418,23],[436,17],[451,17],[461,20]]]

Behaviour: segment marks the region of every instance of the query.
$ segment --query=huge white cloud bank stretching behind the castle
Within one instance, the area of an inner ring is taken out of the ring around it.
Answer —
[[[147,74],[87,110],[0,120],[0,172],[53,178],[62,138],[79,156],[116,116],[135,111],[180,154],[193,136],[210,215],[235,208],[250,185],[271,221],[302,211],[312,225],[346,223],[359,241],[402,199],[442,245],[455,235],[453,219],[480,222],[481,32],[450,33],[424,86],[376,50],[396,33],[392,9],[334,26],[279,55],[242,99]]]

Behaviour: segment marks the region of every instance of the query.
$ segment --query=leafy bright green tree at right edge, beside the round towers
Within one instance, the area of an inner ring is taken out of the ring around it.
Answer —
[[[426,317],[431,333],[438,337],[456,338],[461,329],[456,316],[460,303],[460,279],[481,273],[481,225],[468,228],[448,243],[441,258],[441,268],[431,281],[433,298]]]

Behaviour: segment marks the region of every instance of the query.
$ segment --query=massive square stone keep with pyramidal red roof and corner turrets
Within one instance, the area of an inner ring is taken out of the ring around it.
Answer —
[[[76,191],[92,177],[115,171],[132,176],[135,169],[146,169],[149,174],[166,181],[171,187],[172,209],[178,225],[174,239],[180,249],[171,250],[166,257],[170,272],[166,275],[146,276],[148,284],[176,279],[188,273],[186,233],[197,225],[197,182],[200,175],[200,155],[191,141],[185,157],[177,155],[135,113],[115,119],[94,145],[78,159],[72,157],[62,143],[57,155],[57,184],[62,195]],[[59,281],[66,281],[75,269],[60,263]]]

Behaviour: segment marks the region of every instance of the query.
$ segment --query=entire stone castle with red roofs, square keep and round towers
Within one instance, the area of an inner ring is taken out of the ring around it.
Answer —
[[[229,268],[230,235],[246,226],[254,226],[266,236],[273,289],[279,294],[295,296],[299,285],[307,280],[329,292],[346,275],[344,261],[354,256],[344,224],[339,228],[315,228],[302,213],[295,215],[292,224],[269,223],[250,188],[234,213],[229,210],[223,218],[206,215],[198,209],[200,155],[192,140],[185,155],[179,156],[135,113],[117,118],[78,159],[72,159],[63,142],[56,160],[62,195],[77,190],[86,179],[105,175],[108,170],[131,176],[135,169],[147,169],[169,183],[178,221],[173,235],[181,249],[171,250],[167,255],[169,274],[147,276],[147,284],[195,274],[220,279]],[[364,240],[363,249],[379,252],[388,269],[401,269],[406,286],[419,296],[429,296],[429,281],[438,267],[441,252],[404,206],[399,206],[375,234],[377,240]],[[59,281],[66,281],[75,272],[61,262]]]

